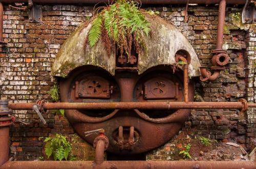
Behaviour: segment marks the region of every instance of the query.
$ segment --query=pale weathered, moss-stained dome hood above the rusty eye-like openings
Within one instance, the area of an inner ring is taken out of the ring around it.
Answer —
[[[185,50],[190,55],[189,75],[200,76],[197,54],[182,33],[158,16],[145,14],[145,17],[151,22],[152,33],[144,37],[147,50],[139,53],[138,73],[157,65],[175,65],[176,52]],[[81,25],[61,46],[52,66],[52,75],[66,76],[73,69],[84,65],[101,67],[115,74],[116,53],[112,51],[108,56],[101,39],[94,47],[87,45],[84,48],[91,26],[91,22],[86,26]]]

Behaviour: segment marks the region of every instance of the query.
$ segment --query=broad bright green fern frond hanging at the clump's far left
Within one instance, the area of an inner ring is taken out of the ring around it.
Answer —
[[[102,17],[99,15],[92,22],[92,27],[88,34],[88,40],[91,47],[93,47],[100,38],[101,35],[101,27],[102,27]]]

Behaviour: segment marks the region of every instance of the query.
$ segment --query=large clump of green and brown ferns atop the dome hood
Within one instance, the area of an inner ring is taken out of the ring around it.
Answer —
[[[121,54],[131,58],[132,43],[136,53],[144,45],[144,35],[150,33],[150,23],[139,10],[138,2],[117,0],[114,4],[103,7],[92,21],[86,42],[93,47],[100,39],[110,55],[116,45]]]

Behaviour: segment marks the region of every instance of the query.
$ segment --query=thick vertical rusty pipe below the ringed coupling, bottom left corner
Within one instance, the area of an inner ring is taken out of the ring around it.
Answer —
[[[9,126],[0,127],[0,166],[9,159]]]

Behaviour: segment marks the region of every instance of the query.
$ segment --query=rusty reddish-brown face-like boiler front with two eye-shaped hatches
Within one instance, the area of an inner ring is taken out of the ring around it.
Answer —
[[[103,69],[84,66],[60,81],[62,102],[156,102],[183,101],[182,71],[157,66],[143,74],[118,71],[115,76]],[[194,85],[189,82],[189,101]],[[190,110],[66,110],[75,131],[93,144],[96,134],[85,131],[103,128],[110,140],[107,151],[137,154],[155,149],[178,133]]]

